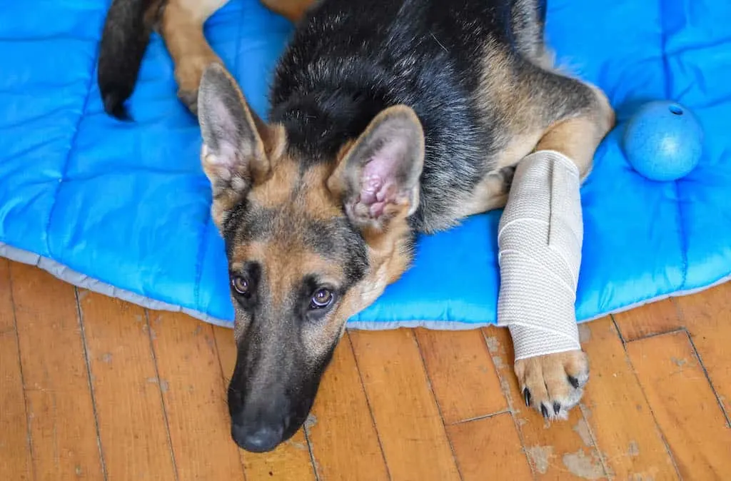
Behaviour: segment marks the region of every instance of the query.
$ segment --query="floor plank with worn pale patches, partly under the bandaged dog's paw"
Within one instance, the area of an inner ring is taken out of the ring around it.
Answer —
[[[572,409],[566,421],[545,423],[540,414],[523,402],[512,368],[515,355],[510,332],[498,327],[486,327],[482,331],[537,479],[598,480],[607,477],[599,451],[591,436],[586,435],[586,420],[580,409]]]

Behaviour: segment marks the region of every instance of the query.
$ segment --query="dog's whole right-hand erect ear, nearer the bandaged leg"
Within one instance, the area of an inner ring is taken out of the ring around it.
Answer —
[[[414,110],[395,105],[382,110],[341,157],[327,181],[358,227],[382,230],[397,216],[419,206],[424,164],[424,132]]]

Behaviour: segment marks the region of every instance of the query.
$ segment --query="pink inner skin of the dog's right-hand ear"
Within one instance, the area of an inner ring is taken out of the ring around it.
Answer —
[[[388,203],[395,203],[398,197],[395,173],[398,162],[404,162],[405,156],[406,142],[390,139],[363,167],[360,203],[368,205],[371,216],[381,216]]]

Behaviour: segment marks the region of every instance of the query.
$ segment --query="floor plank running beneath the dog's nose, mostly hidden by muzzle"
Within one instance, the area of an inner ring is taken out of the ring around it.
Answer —
[[[221,369],[219,377],[222,373],[225,381],[224,385],[227,385],[236,363],[236,345],[233,341],[233,332],[225,327],[213,327],[213,333],[216,337],[219,352]],[[226,422],[229,422],[228,418]],[[227,439],[230,439],[230,437]],[[230,443],[235,446],[232,440]],[[246,479],[249,481],[307,481],[315,479],[310,451],[303,429],[300,429],[289,441],[272,452],[239,451],[246,472]]]

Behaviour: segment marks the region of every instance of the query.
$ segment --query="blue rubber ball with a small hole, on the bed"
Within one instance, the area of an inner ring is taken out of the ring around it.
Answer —
[[[700,161],[703,131],[696,116],[677,102],[648,102],[629,119],[624,154],[652,181],[675,181]]]

